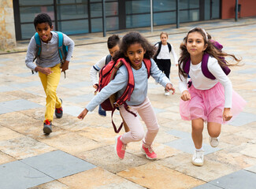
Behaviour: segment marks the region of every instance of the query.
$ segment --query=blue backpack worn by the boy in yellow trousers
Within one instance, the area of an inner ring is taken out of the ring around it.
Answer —
[[[65,62],[65,57],[68,54],[68,46],[65,46],[63,44],[63,41],[64,41],[63,33],[61,31],[54,31],[54,32],[58,34],[58,54],[61,58],[61,65],[62,65]],[[35,57],[33,61],[35,61],[35,59],[40,56],[42,51],[42,43],[41,43],[41,39],[39,37],[38,32],[35,33],[35,43],[36,43],[36,50],[35,50]],[[33,70],[32,70],[32,73],[34,73]]]

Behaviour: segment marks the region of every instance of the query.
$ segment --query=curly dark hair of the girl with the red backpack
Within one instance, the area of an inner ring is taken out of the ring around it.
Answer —
[[[144,58],[150,59],[150,57],[154,56],[154,46],[151,45],[147,41],[147,39],[144,38],[143,35],[141,35],[139,32],[131,31],[124,35],[124,37],[122,38],[120,50],[118,50],[117,53],[114,54],[113,61],[117,61],[120,57],[124,57],[126,61],[129,61],[128,57],[125,57],[124,54],[126,54],[128,47],[135,43],[141,44],[143,49],[146,50]]]

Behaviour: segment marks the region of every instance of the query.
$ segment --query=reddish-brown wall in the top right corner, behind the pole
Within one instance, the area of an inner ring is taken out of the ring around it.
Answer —
[[[241,15],[240,17],[254,17],[256,16],[256,1],[255,0],[239,0],[239,4],[241,5]],[[223,0],[222,1],[222,9],[221,9],[221,18],[235,18],[235,0]]]

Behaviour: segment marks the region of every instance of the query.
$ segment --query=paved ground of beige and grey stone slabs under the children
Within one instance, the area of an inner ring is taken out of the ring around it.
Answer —
[[[81,121],[76,118],[94,94],[89,70],[108,54],[106,39],[98,34],[76,35],[75,52],[67,78],[61,76],[58,95],[64,116],[54,119],[53,133],[43,135],[45,94],[37,74],[24,64],[28,43],[19,43],[17,54],[0,54],[0,188],[255,188],[256,184],[256,18],[216,20],[175,26],[138,29],[151,43],[160,31],[169,32],[176,54],[185,32],[201,26],[224,44],[224,51],[243,57],[233,67],[233,88],[247,101],[243,113],[222,127],[217,148],[209,145],[206,129],[205,165],[191,164],[193,143],[189,121],[180,119],[178,74],[172,66],[176,95],[164,96],[164,88],[149,80],[148,96],[161,126],[154,142],[157,161],[140,152],[141,143],[129,143],[123,161],[114,154],[110,113],[99,117],[97,109]],[[126,31],[109,32],[108,36]],[[90,43],[90,44],[89,44]],[[86,44],[86,45],[84,45]],[[11,50],[15,51],[15,50]],[[114,120],[120,122],[116,113]],[[123,132],[123,131],[122,131]]]

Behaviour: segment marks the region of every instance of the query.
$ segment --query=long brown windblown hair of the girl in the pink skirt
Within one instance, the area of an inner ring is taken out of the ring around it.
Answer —
[[[217,49],[217,47],[213,45],[214,41],[211,40],[212,36],[209,33],[207,33],[204,29],[193,28],[187,32],[186,37],[184,37],[183,42],[180,44],[179,76],[187,77],[187,73],[184,72],[184,69],[183,69],[184,67],[183,64],[186,64],[188,58],[190,57],[190,54],[187,51],[186,44],[187,44],[187,36],[193,32],[198,32],[202,35],[204,43],[207,44],[206,50],[204,50],[204,52],[207,54],[210,54],[211,57],[215,57],[219,65],[221,65],[221,67],[238,65],[239,61],[241,61],[241,59],[237,58],[234,54],[227,54],[222,50]],[[232,57],[232,59],[236,61],[236,64],[231,64],[230,62],[224,60],[221,57]]]

